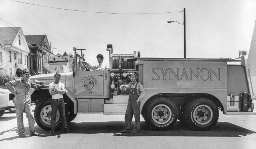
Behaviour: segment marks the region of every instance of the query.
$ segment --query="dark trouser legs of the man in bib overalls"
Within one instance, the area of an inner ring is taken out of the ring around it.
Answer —
[[[131,129],[132,117],[134,115],[137,130],[140,130],[140,107],[136,98],[129,97],[126,113],[124,116],[125,129]]]

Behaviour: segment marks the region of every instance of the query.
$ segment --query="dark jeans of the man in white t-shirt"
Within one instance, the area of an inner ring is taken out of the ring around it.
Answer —
[[[52,115],[51,115],[51,130],[55,130],[56,127],[56,114],[57,110],[60,111],[60,117],[62,119],[62,127],[67,128],[67,119],[65,113],[65,103],[64,99],[52,99]]]

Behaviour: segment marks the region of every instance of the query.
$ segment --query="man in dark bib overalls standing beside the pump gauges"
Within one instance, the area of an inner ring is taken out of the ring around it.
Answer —
[[[132,117],[134,115],[136,127],[132,133],[138,133],[140,131],[140,100],[145,95],[145,90],[141,83],[136,81],[136,75],[131,74],[130,79],[132,82],[128,84],[129,99],[124,116],[125,129],[121,133],[131,132]]]

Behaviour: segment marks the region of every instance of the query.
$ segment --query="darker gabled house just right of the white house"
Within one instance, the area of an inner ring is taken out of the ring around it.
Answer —
[[[51,48],[46,35],[25,36],[28,48],[30,49],[30,74],[54,73],[49,67]]]

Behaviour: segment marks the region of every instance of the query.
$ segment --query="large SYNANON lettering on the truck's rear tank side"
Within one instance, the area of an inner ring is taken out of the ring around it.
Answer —
[[[220,81],[220,68],[218,68],[218,72],[215,72],[212,68],[196,68],[196,70],[192,70],[191,68],[189,68],[189,70],[187,71],[185,68],[183,68],[182,72],[180,70],[180,68],[177,68],[177,71],[174,72],[172,68],[152,68],[152,73],[155,74],[155,76],[152,77],[152,80],[159,80],[160,78],[162,80],[166,80],[166,77],[169,76],[169,78],[167,78],[168,80],[197,79],[198,81],[212,81],[215,76],[215,78]],[[187,72],[189,72],[189,74]]]

